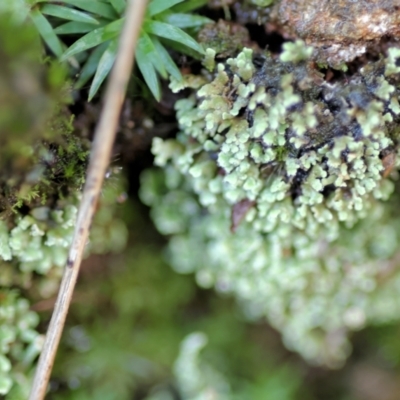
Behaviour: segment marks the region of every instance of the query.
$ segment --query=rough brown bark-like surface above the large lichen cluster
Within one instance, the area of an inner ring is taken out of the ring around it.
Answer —
[[[271,18],[316,47],[317,61],[332,66],[400,37],[400,0],[281,0]]]

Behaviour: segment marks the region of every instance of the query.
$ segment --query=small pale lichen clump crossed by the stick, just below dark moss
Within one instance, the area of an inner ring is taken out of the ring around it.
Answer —
[[[123,194],[122,187],[118,177],[113,177],[111,184],[105,184],[87,254],[118,252],[124,248],[128,232],[113,212],[118,196]],[[77,195],[70,196],[53,208],[33,208],[25,216],[15,214],[13,222],[0,220],[0,265],[7,268],[7,264],[12,264],[23,274],[45,275],[54,268],[61,273],[75,229],[78,201]],[[6,275],[0,275],[4,286],[8,282],[12,284]],[[45,297],[51,294],[42,293]]]

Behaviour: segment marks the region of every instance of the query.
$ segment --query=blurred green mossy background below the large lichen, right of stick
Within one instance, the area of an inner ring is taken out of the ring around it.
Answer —
[[[268,324],[246,321],[233,299],[172,271],[165,239],[136,199],[118,208],[127,248],[84,262],[49,399],[400,398],[398,325],[355,334],[341,370],[307,365]],[[51,307],[36,306],[44,319]]]

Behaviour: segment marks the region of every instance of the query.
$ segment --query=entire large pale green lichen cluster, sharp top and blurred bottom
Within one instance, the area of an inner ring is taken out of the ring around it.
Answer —
[[[311,53],[297,41],[278,59],[244,49],[215,65],[208,50],[208,71],[186,77],[197,92],[176,104],[180,133],[153,142],[164,171],[145,173],[142,199],[174,235],[177,270],[334,366],[348,330],[397,318],[397,280],[381,276],[398,229],[381,203],[399,165],[400,50],[334,83]]]

